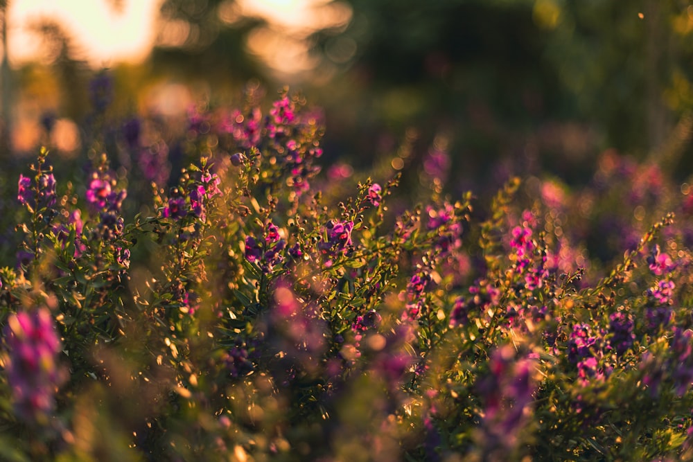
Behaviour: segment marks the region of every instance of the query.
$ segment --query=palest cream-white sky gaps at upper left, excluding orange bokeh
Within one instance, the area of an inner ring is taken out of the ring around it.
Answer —
[[[157,37],[155,20],[162,1],[122,0],[115,9],[108,0],[10,0],[10,63],[42,59],[42,38],[35,32],[35,25],[41,19],[63,24],[73,37],[80,57],[94,67],[141,61]],[[300,35],[301,25],[311,24],[313,7],[325,0],[238,0],[236,3],[242,14],[263,16],[277,30]],[[266,31],[264,38],[263,43],[270,46]],[[252,51],[263,53],[263,44],[252,45]],[[277,52],[276,49],[264,51],[269,61],[272,53]]]

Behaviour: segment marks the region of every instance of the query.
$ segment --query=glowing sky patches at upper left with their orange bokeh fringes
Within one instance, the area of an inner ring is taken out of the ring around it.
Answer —
[[[12,65],[50,60],[38,25],[60,24],[73,41],[76,57],[93,67],[116,62],[141,62],[159,37],[177,45],[184,41],[186,24],[170,23],[155,30],[163,0],[121,0],[119,8],[107,0],[13,0],[8,10],[8,45]],[[267,19],[268,26],[249,37],[249,51],[270,66],[290,73],[309,69],[304,39],[322,27],[346,26],[351,9],[327,0],[237,0],[222,3],[219,16],[231,23],[240,15]]]

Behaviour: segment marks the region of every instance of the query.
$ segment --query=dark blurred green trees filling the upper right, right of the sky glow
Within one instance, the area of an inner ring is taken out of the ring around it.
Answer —
[[[430,141],[444,130],[455,170],[482,181],[499,159],[574,181],[605,148],[672,172],[690,159],[687,1],[337,1],[351,24],[312,37],[323,71],[337,73],[319,97],[332,98],[340,130],[326,142],[372,153],[374,139],[353,133],[413,125]]]

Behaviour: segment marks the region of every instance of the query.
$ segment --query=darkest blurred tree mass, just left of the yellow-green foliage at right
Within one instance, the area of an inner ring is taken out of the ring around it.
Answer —
[[[345,30],[313,35],[323,69],[337,69],[335,91],[318,100],[340,136],[335,145],[372,154],[378,141],[353,131],[395,134],[419,130],[420,155],[438,132],[452,136],[453,168],[460,177],[487,179],[499,154],[518,157],[525,134],[549,116],[574,113],[559,78],[543,57],[547,35],[536,25],[531,1],[349,0],[353,21]],[[353,48],[344,59],[340,50]],[[363,98],[357,98],[363,95]],[[335,98],[344,98],[336,100]],[[356,109],[349,107],[357,106]],[[349,121],[344,114],[354,114]],[[520,139],[518,139],[518,137]],[[357,139],[358,138],[358,139]],[[327,142],[330,141],[326,140]],[[483,180],[482,180],[483,181]]]

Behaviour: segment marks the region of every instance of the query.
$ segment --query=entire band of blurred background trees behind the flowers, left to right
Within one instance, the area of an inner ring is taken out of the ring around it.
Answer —
[[[161,80],[201,85],[212,100],[238,94],[252,78],[269,91],[290,83],[324,108],[326,161],[367,167],[405,143],[406,161],[416,166],[437,143],[450,154],[460,190],[494,188],[509,172],[581,183],[611,148],[672,173],[690,158],[693,7],[686,1],[338,0],[328,7],[350,12],[349,21],[301,37],[314,66],[286,75],[249,46],[255,31],[277,28],[245,16],[236,1],[165,0],[149,60],[114,69],[119,102]],[[76,93],[90,71],[69,30],[41,30],[58,50],[55,85],[64,103],[57,110],[77,120],[89,110]],[[35,69],[15,71],[21,87],[35,82]]]

